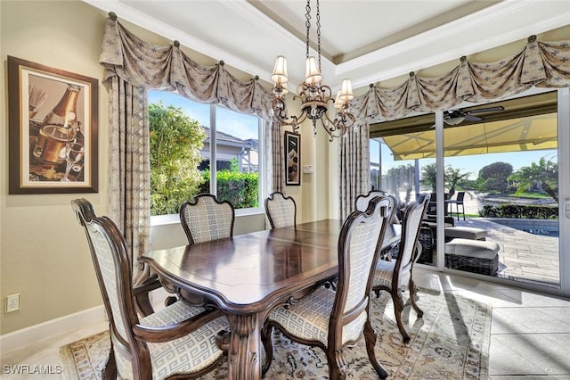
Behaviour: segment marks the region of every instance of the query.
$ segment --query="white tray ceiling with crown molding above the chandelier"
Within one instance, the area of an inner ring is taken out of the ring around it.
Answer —
[[[84,1],[267,81],[285,55],[290,80],[304,79],[304,0]],[[570,24],[568,0],[321,0],[320,11],[333,90],[342,78],[368,87]]]

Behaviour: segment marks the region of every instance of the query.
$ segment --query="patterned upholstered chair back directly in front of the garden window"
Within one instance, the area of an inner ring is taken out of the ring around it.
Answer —
[[[194,202],[184,202],[181,219],[191,244],[232,236],[235,213],[230,202],[217,202],[211,194],[200,194]]]

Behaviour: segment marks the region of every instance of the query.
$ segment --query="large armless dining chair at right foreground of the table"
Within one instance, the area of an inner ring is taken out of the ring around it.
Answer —
[[[387,217],[392,213],[391,198],[375,197],[365,212],[352,212],[338,237],[338,285],[319,286],[300,300],[280,305],[269,312],[262,329],[265,347],[263,373],[273,359],[273,327],[292,341],[320,347],[329,362],[330,379],[346,377],[343,349],[354,345],[364,332],[366,351],[372,367],[381,378],[387,371],[374,354],[376,332],[371,326],[369,295],[372,268],[376,267]]]

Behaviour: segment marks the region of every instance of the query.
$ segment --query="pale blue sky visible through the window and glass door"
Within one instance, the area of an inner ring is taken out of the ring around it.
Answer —
[[[157,103],[159,100],[167,104],[172,104],[175,107],[180,107],[183,112],[190,116],[191,119],[198,120],[204,127],[209,127],[209,105],[202,103],[191,102],[181,95],[177,95],[166,91],[150,91],[149,103]],[[216,126],[218,131],[227,133],[232,136],[240,137],[241,139],[258,138],[257,135],[257,118],[255,116],[244,115],[239,112],[232,112],[224,109],[223,107],[216,108]],[[379,161],[379,144],[371,142],[371,161]],[[410,163],[413,165],[413,160],[394,161],[387,145],[381,145],[382,151],[382,172],[386,174],[387,170],[399,165],[406,165]],[[513,170],[520,169],[523,166],[528,166],[532,162],[538,162],[542,157],[558,161],[556,150],[546,151],[526,151],[514,153],[489,153],[478,154],[472,156],[459,156],[449,157],[445,159],[445,164],[451,164],[454,169],[462,169],[461,172],[470,172],[469,178],[476,179],[479,170],[485,165],[492,164],[493,162],[509,162],[513,166]],[[423,163],[433,162],[435,159],[422,159],[419,161],[420,166]]]

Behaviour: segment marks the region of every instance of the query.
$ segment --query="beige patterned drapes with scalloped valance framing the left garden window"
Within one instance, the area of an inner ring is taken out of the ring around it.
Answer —
[[[224,62],[200,65],[183,54],[180,45],[161,46],[142,41],[125,29],[114,13],[105,24],[100,64],[110,97],[110,217],[126,236],[134,284],[150,273],[139,261],[148,251],[151,218],[151,179],[147,91],[176,91],[199,103],[224,104],[235,112],[271,120],[273,93],[258,78],[241,81],[224,68]],[[271,122],[267,123],[271,127]],[[279,147],[281,128],[266,128],[266,153]],[[267,152],[268,151],[268,152]],[[273,188],[284,183],[282,160],[273,160]]]

